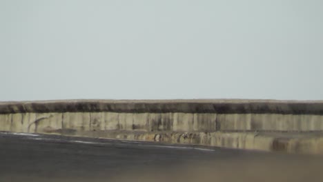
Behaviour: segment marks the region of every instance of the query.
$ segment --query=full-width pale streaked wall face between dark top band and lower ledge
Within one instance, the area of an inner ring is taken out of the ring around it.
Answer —
[[[43,132],[63,129],[146,132],[323,130],[323,116],[313,114],[25,112],[0,114],[0,122],[0,130],[12,132]]]

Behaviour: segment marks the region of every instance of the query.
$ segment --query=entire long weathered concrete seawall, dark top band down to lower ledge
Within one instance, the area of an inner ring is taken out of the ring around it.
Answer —
[[[322,101],[0,103],[0,130],[323,153]]]

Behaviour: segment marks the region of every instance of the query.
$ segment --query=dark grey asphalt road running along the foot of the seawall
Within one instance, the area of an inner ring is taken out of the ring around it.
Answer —
[[[0,133],[0,181],[137,181],[142,176],[174,181],[176,175],[185,176],[183,181],[215,176],[217,181],[234,181],[232,176],[264,181],[282,170],[284,181],[297,181],[323,179],[322,161],[322,156]]]

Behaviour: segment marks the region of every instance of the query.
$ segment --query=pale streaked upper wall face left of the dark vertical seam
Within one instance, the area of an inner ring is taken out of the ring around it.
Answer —
[[[12,132],[166,131],[214,132],[212,113],[48,112],[0,114],[0,130]]]

